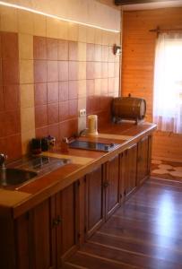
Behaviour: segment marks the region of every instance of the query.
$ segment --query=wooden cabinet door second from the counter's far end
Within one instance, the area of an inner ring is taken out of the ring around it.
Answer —
[[[130,195],[136,187],[136,157],[137,144],[135,143],[126,150],[126,197]]]

